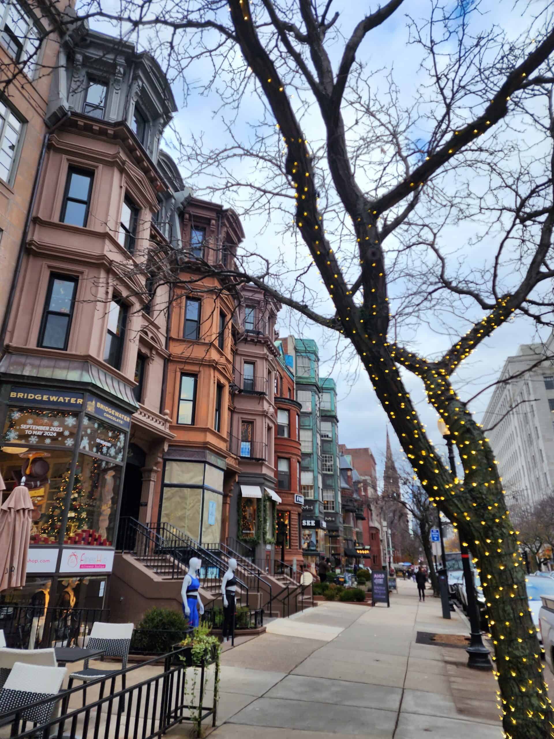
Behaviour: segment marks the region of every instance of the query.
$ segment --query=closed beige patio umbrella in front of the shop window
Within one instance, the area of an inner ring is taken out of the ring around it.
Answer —
[[[25,585],[32,513],[33,503],[24,485],[13,488],[0,506],[0,590]]]

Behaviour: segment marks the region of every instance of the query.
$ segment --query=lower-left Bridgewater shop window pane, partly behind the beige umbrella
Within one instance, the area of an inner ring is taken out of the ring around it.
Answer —
[[[0,472],[6,486],[4,497],[20,483],[23,476],[29,488],[33,502],[31,544],[58,543],[62,502],[71,460],[71,452],[56,449],[45,452],[24,447],[2,447]]]

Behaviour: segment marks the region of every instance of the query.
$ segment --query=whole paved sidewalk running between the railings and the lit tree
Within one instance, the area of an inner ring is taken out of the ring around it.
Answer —
[[[420,603],[403,581],[389,609],[323,602],[271,622],[222,655],[211,737],[500,739],[492,675],[468,670],[464,649],[418,644],[418,632],[467,628],[454,613],[442,619],[437,599]]]

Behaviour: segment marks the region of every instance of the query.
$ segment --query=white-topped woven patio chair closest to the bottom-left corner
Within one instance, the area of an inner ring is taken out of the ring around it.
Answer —
[[[20,715],[21,721],[32,721],[35,724],[47,723],[58,702],[58,693],[66,672],[65,667],[46,667],[41,664],[16,662],[13,664],[4,687],[0,690],[0,714],[9,711],[16,712],[23,706],[52,695],[52,698],[55,697],[54,701],[24,710]],[[21,726],[18,728],[21,729]]]

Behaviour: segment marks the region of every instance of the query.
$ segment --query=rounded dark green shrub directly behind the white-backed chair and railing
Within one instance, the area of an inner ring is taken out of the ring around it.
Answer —
[[[188,620],[171,608],[147,610],[134,629],[131,638],[131,654],[165,654],[187,636]]]

